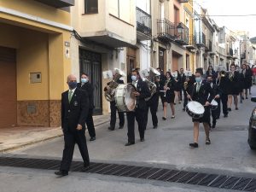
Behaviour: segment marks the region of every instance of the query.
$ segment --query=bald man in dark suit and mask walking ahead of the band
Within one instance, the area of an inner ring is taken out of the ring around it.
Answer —
[[[89,99],[84,90],[77,89],[77,79],[74,75],[67,77],[69,90],[61,94],[61,128],[64,134],[65,147],[63,150],[60,171],[58,176],[67,176],[73,159],[73,149],[78,143],[84,160],[86,171],[90,165],[88,149],[85,139],[85,121],[87,118]]]

